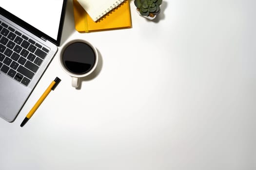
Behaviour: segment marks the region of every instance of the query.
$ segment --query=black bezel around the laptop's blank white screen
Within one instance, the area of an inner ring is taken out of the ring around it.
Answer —
[[[10,12],[3,9],[2,7],[0,7],[0,14],[3,15],[4,17],[7,17],[10,20],[12,20],[13,22],[20,25],[22,28],[28,30],[29,32],[37,35],[39,38],[43,37],[44,39],[47,39],[47,40],[51,41],[52,43],[54,43],[55,45],[59,46],[60,45],[60,40],[61,40],[61,35],[62,35],[63,24],[64,24],[66,4],[67,4],[67,0],[63,0],[62,9],[61,9],[61,16],[60,16],[60,20],[59,20],[59,30],[58,30],[57,39],[54,39],[53,37],[50,37],[47,34],[44,34],[40,30],[38,30],[37,28],[35,28],[32,25],[28,24],[27,22],[23,21],[19,17],[16,17],[15,15],[11,14]]]

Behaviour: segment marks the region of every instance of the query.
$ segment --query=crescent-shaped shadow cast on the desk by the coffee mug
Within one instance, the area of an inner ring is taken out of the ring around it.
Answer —
[[[98,51],[98,49],[97,49],[97,51]],[[81,86],[82,86],[83,82],[87,82],[87,81],[91,81],[91,80],[95,79],[98,76],[98,74],[100,73],[100,71],[102,69],[102,66],[103,66],[102,56],[101,56],[101,53],[98,51],[98,65],[97,65],[97,67],[95,68],[95,70],[90,75],[80,78],[79,86],[76,89],[77,90],[81,89]]]

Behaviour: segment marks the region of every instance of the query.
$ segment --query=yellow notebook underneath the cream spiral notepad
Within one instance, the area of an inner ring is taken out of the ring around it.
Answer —
[[[93,21],[77,0],[73,0],[73,7],[75,27],[80,33],[132,27],[129,0],[121,3],[117,8],[99,19],[97,22]]]

